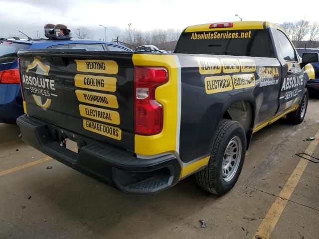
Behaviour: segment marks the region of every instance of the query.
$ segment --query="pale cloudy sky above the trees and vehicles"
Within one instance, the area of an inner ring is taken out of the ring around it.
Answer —
[[[126,34],[128,23],[132,30],[182,30],[194,24],[237,21],[235,14],[243,20],[274,23],[319,21],[318,0],[309,0],[305,6],[281,0],[0,0],[0,5],[0,37],[21,36],[18,30],[30,37],[40,31],[44,37],[46,23],[65,24],[72,32],[85,26],[97,40],[105,38],[101,24],[107,27],[110,41]]]

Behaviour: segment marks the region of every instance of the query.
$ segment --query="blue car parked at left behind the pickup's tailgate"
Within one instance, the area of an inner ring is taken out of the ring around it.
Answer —
[[[17,52],[26,49],[85,49],[87,51],[132,51],[113,42],[94,40],[12,40],[0,43],[0,123],[15,124],[23,114]]]

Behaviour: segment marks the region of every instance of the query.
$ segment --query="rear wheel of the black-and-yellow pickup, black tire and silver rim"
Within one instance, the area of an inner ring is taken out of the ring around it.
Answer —
[[[196,173],[197,184],[207,192],[223,195],[236,184],[246,154],[246,134],[234,120],[222,119],[208,166]]]

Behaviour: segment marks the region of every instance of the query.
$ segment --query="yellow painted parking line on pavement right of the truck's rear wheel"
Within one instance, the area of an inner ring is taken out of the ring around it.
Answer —
[[[316,133],[316,138],[319,138],[319,131]],[[318,146],[319,140],[312,141],[308,148],[306,149],[307,154],[312,155],[315,151],[316,147]],[[309,156],[305,156],[309,157]],[[309,157],[310,158],[310,157]],[[266,217],[259,225],[257,232],[254,234],[253,239],[262,238],[262,239],[269,239],[273,230],[275,229],[283,211],[286,208],[288,200],[290,199],[291,195],[295,191],[295,188],[303,175],[309,161],[307,159],[301,158],[298,165],[296,166],[294,172],[290,175],[288,181],[286,182],[285,186],[281,190],[280,194],[276,198],[275,202],[269,209]]]

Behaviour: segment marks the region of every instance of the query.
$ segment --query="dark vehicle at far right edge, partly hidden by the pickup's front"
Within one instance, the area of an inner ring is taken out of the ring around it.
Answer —
[[[303,58],[303,60],[307,55],[308,59],[305,59],[305,60],[306,61],[310,60],[309,61],[311,62],[310,64],[314,67],[315,79],[307,83],[307,89],[310,95],[319,97],[319,59],[318,59],[319,49],[318,48],[297,48],[297,52]],[[305,53],[307,54],[304,57]],[[314,54],[311,54],[311,53],[314,53]],[[313,57],[315,57],[315,59],[313,59]]]

